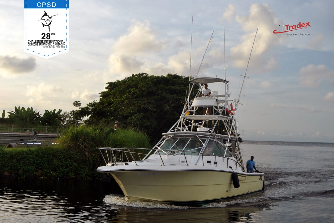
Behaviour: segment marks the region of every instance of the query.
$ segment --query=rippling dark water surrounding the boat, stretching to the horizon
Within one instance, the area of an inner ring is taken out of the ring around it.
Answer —
[[[0,180],[0,222],[334,222],[334,143],[245,141],[265,191],[184,207],[126,202],[102,181]]]

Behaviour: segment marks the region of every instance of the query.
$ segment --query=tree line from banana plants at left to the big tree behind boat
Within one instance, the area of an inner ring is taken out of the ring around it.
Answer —
[[[41,115],[32,107],[15,107],[14,111],[7,112],[9,116],[5,118],[3,110],[0,127],[37,125],[68,128],[82,125],[83,117],[88,117],[87,125],[111,126],[118,121],[119,127],[144,132],[154,142],[181,115],[188,81],[188,77],[177,74],[135,74],[121,81],[108,82],[99,101],[90,102],[85,107],[81,107],[80,101],[74,101],[75,110],[69,112],[50,109]]]

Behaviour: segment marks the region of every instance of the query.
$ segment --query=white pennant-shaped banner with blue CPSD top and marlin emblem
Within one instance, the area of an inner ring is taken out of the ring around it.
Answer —
[[[68,0],[24,0],[24,51],[42,58],[68,52]]]

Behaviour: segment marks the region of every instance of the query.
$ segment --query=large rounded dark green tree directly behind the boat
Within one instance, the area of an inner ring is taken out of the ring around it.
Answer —
[[[139,73],[121,81],[108,82],[99,102],[80,109],[89,116],[88,124],[114,124],[132,127],[156,139],[179,118],[188,77],[177,74],[149,76]]]

